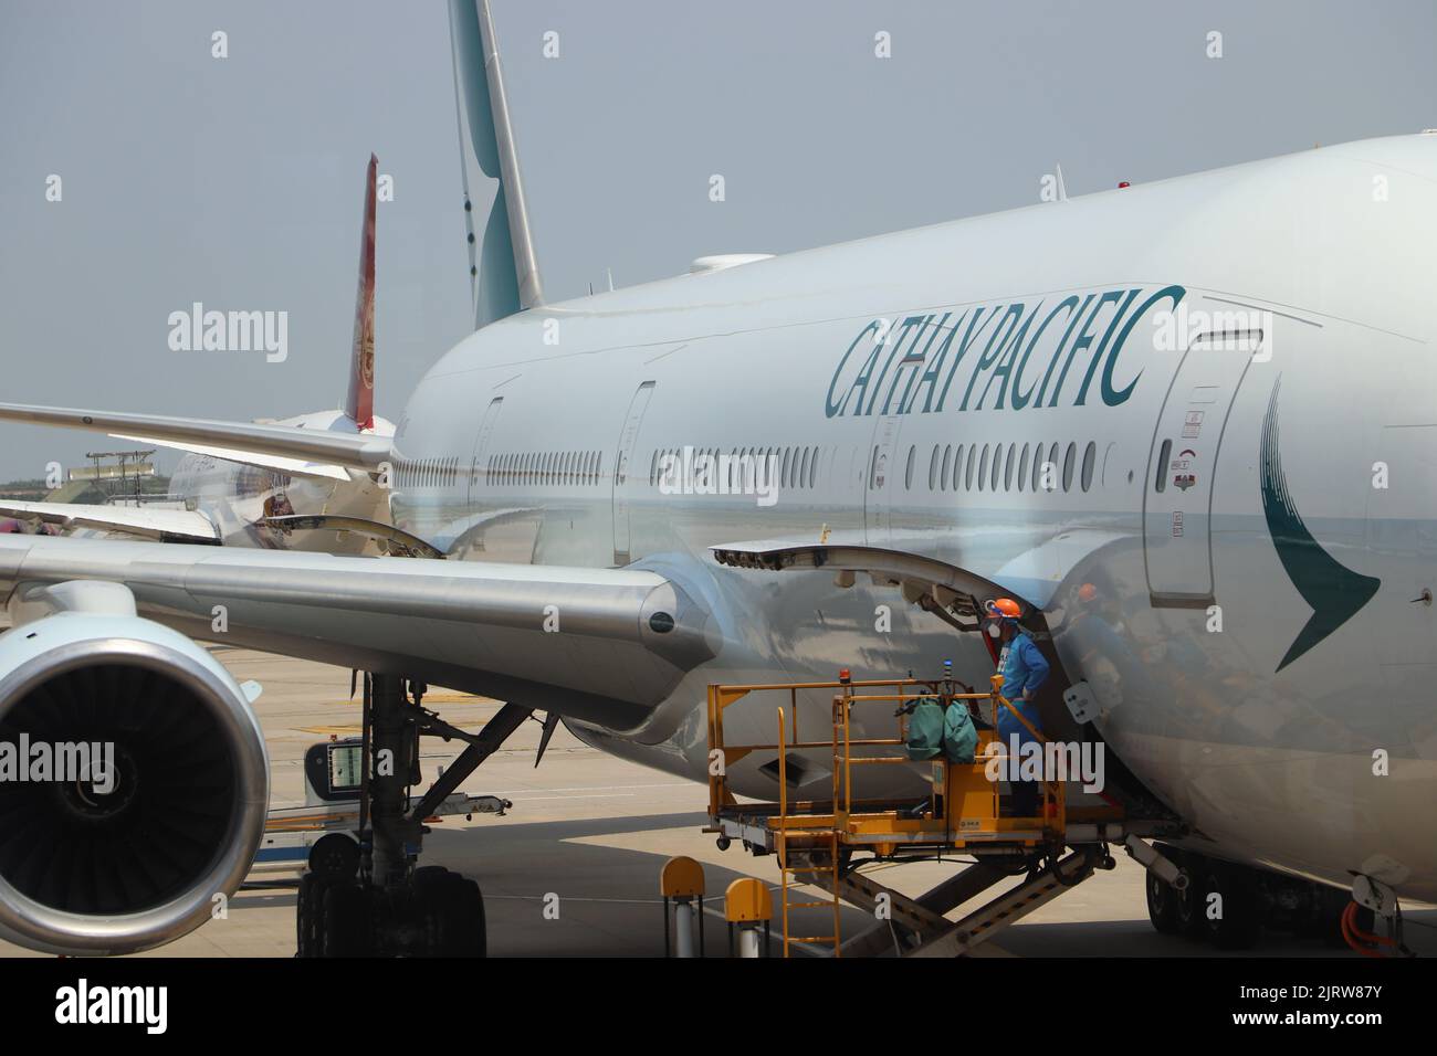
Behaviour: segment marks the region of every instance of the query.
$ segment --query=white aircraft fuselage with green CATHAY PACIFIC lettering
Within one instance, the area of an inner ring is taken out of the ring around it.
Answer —
[[[697,779],[707,682],[992,671],[864,576],[708,546],[826,527],[969,569],[1042,608],[1106,744],[1200,839],[1434,899],[1433,244],[1423,135],[535,309],[420,384],[392,514],[453,557],[697,583],[717,659],[638,730],[575,726]],[[684,448],[776,455],[776,501],[667,494]],[[727,723],[772,738],[772,708]],[[734,786],[772,796],[764,761]]]

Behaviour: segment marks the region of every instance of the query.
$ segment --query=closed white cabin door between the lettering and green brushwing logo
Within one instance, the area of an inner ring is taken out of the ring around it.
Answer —
[[[1213,603],[1213,474],[1233,398],[1262,330],[1197,335],[1168,386],[1142,487],[1144,557],[1154,606]]]

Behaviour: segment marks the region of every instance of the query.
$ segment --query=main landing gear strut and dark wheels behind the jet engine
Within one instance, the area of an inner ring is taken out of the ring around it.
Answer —
[[[358,843],[343,833],[310,851],[296,909],[299,957],[483,957],[484,898],[457,872],[417,865],[424,819],[529,717],[506,704],[479,734],[421,707],[424,685],[398,675],[365,677]],[[420,737],[468,747],[424,796]]]

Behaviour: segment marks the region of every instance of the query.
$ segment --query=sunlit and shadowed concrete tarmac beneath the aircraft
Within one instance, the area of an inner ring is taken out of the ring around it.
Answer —
[[[332,734],[359,733],[359,704],[349,700],[349,671],[247,649],[217,648],[216,657],[240,681],[264,687],[256,707],[266,731],[272,805],[303,803],[305,749]],[[496,701],[434,688],[425,697],[447,721],[477,730]],[[660,957],[664,914],[658,875],[674,855],[697,859],[706,872],[706,951],[724,955],[723,891],[739,876],[777,886],[772,856],[740,845],[718,851],[707,822],[707,789],[589,749],[562,726],[535,769],[537,721],[526,723],[502,750],[464,782],[471,795],[513,802],[504,816],[444,818],[433,825],[422,861],[457,869],[484,892],[491,957]],[[425,780],[463,746],[425,740]],[[1112,872],[1099,872],[986,944],[989,955],[1017,957],[1229,957],[1233,954],[1157,934],[1144,901],[1144,869],[1121,852]],[[953,875],[958,863],[869,866],[904,894],[917,895]],[[254,885],[230,899],[228,915],[142,957],[293,957],[292,875],[254,874]],[[775,901],[777,901],[775,898]],[[961,911],[961,908],[960,908]],[[950,917],[957,917],[954,911]],[[821,912],[821,911],[812,911]],[[1407,912],[1408,945],[1437,954],[1437,909]],[[815,925],[816,927],[816,925]],[[845,908],[845,938],[874,920]],[[819,928],[816,928],[819,930]],[[813,932],[810,932],[813,934]],[[772,953],[779,954],[777,928]],[[799,951],[803,953],[803,951]],[[36,955],[0,942],[0,955]],[[1265,934],[1244,957],[1355,957],[1319,940]]]

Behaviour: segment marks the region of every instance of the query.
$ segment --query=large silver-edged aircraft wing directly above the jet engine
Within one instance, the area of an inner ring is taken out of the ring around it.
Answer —
[[[624,731],[718,651],[697,593],[638,569],[0,536],[0,599],[121,583],[204,641],[420,678]]]

